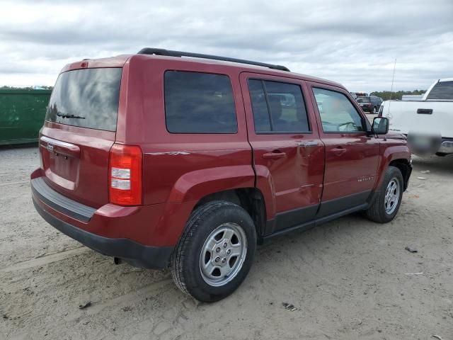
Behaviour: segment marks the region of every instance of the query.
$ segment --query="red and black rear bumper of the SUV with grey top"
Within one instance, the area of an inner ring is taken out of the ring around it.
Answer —
[[[33,176],[32,176],[33,177]],[[107,256],[141,268],[166,268],[174,234],[157,232],[164,208],[159,206],[91,208],[54,191],[42,177],[30,182],[33,204],[50,225]],[[178,228],[174,228],[178,232]],[[143,240],[143,241],[142,241]],[[168,242],[165,244],[165,240]],[[147,244],[145,244],[147,243]],[[170,244],[170,245],[168,245]]]

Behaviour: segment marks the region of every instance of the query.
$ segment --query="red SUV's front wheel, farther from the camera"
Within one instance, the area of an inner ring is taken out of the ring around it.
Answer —
[[[384,174],[379,192],[372,205],[365,211],[369,220],[387,223],[398,213],[403,197],[403,175],[395,166],[389,166]]]

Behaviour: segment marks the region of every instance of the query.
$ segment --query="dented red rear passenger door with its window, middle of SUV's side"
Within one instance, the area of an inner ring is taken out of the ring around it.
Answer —
[[[304,82],[243,73],[241,89],[254,166],[270,173],[275,193],[275,223],[266,234],[302,225],[319,208],[324,167]]]

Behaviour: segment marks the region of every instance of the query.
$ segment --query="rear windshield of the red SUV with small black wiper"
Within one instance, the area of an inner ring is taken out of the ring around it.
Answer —
[[[59,75],[45,119],[54,123],[116,131],[120,68],[77,69]]]

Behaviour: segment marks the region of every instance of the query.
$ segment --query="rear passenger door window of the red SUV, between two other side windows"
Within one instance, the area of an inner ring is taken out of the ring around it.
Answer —
[[[299,85],[249,79],[248,91],[257,133],[310,131]]]

